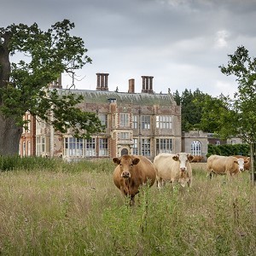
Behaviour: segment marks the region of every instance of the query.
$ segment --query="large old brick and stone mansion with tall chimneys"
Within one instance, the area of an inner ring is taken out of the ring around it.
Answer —
[[[127,92],[109,91],[108,73],[96,74],[96,90],[65,90],[60,81],[51,84],[60,94],[71,91],[83,95],[84,102],[79,108],[97,113],[106,131],[94,134],[89,140],[79,139],[26,115],[35,123],[35,129],[22,135],[20,155],[80,160],[142,154],[153,160],[160,152],[180,152],[181,107],[170,92],[154,93],[153,77],[142,76],[142,79],[141,93],[135,93],[134,79],[128,81]],[[32,145],[34,148],[28,149]]]

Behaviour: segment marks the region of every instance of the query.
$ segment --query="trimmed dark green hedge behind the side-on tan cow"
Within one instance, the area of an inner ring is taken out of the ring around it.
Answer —
[[[207,157],[211,154],[218,155],[250,155],[250,147],[248,144],[224,144],[224,145],[212,145],[208,144]]]

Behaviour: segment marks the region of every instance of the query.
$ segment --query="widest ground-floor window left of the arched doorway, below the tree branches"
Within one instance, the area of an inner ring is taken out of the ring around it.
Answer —
[[[82,138],[66,137],[64,139],[64,155],[82,156],[84,153],[84,141]]]

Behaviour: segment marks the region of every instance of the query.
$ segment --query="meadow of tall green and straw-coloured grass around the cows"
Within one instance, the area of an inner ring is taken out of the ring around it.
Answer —
[[[191,189],[142,189],[129,207],[111,160],[31,159],[0,172],[1,255],[256,255],[256,189],[249,173]],[[1,169],[1,166],[0,166]]]

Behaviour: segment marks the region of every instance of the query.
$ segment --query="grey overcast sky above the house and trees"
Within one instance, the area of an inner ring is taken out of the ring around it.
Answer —
[[[74,22],[92,59],[77,89],[96,90],[96,73],[109,73],[108,90],[126,92],[135,79],[141,92],[141,76],[154,76],[156,93],[233,96],[236,77],[218,66],[241,45],[256,56],[256,0],[1,0],[0,27],[37,22],[47,30],[63,19]],[[64,88],[72,84],[62,79]]]

